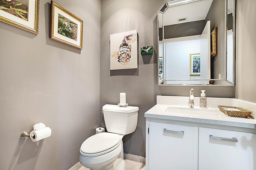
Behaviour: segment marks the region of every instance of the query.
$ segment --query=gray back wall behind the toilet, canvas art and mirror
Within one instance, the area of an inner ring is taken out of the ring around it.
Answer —
[[[156,95],[188,96],[190,86],[157,85],[157,11],[165,0],[103,0],[101,2],[100,108],[118,104],[119,93],[126,92],[130,106],[139,107],[134,133],[124,137],[124,152],[145,156],[146,119],[144,113],[156,104]],[[138,55],[138,69],[110,71],[110,34],[136,29],[138,47],[154,46],[154,54]],[[193,87],[195,96],[205,89],[208,97],[234,98],[234,87]],[[103,115],[100,124],[104,126]]]

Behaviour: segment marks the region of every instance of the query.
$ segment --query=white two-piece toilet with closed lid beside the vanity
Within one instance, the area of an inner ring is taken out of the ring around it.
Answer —
[[[139,107],[106,104],[102,107],[106,130],[86,139],[79,161],[90,170],[124,170],[122,138],[135,131]]]

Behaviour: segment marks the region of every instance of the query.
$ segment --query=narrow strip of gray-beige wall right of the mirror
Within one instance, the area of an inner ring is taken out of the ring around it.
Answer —
[[[236,98],[256,103],[256,1],[236,4]]]

